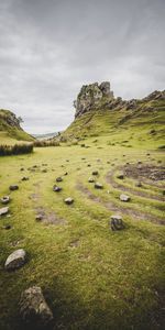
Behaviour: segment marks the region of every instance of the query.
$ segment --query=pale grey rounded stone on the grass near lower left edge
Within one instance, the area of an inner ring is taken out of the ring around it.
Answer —
[[[14,271],[22,267],[26,262],[26,253],[23,249],[15,250],[11,253],[4,264],[7,271]]]

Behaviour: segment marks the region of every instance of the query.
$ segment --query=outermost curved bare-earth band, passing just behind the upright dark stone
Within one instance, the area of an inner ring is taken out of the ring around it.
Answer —
[[[103,201],[100,197],[97,197],[92,193],[90,193],[88,190],[88,188],[85,187],[81,183],[77,183],[76,188],[80,193],[85,194],[90,200],[102,205],[103,207],[106,207],[110,211],[119,212],[121,215],[123,213],[123,215],[127,215],[131,218],[136,218],[139,220],[151,221],[151,222],[156,223],[156,224],[162,224],[162,226],[165,224],[165,221],[161,218],[157,218],[156,216],[152,216],[152,215],[148,215],[148,213],[145,213],[145,212],[141,212],[139,210],[134,210],[134,209],[131,209],[131,208],[123,208],[121,206],[117,206],[112,201]]]

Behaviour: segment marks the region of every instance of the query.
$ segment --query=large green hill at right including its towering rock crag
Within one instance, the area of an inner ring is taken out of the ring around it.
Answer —
[[[101,135],[116,141],[118,135],[121,141],[147,139],[151,143],[163,143],[165,90],[154,91],[141,100],[125,101],[113,97],[108,82],[102,84],[101,89],[97,82],[82,86],[74,102],[75,121],[62,133],[61,141]]]

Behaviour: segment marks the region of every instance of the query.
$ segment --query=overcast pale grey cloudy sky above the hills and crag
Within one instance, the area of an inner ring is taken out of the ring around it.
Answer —
[[[165,0],[0,0],[0,108],[30,133],[64,130],[82,85],[165,89]]]

